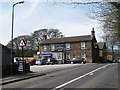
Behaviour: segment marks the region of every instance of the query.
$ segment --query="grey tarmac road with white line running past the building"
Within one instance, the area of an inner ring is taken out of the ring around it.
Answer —
[[[120,83],[119,83],[120,84]],[[118,88],[118,64],[86,64],[41,77],[3,85],[2,88]]]

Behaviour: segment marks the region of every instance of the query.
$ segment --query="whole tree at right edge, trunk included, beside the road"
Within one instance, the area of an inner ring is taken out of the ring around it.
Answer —
[[[114,46],[120,43],[120,2],[106,2],[92,9],[93,19],[99,20],[104,32],[105,42],[111,46],[114,60]]]

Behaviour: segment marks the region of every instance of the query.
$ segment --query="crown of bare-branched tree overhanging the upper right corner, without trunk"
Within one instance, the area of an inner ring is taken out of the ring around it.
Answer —
[[[96,7],[96,8],[95,8]],[[102,30],[110,32],[115,37],[120,37],[120,3],[104,2],[94,5],[90,9],[92,19],[100,21]],[[114,33],[113,33],[114,32]],[[105,36],[106,37],[106,36]]]

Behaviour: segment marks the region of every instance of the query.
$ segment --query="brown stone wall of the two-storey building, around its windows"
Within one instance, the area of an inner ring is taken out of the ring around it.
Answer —
[[[84,42],[84,41],[83,41]],[[85,49],[81,50],[81,42],[74,42],[70,43],[70,50],[66,51],[65,43],[64,44],[64,57],[66,57],[66,54],[70,54],[70,59],[72,60],[74,57],[81,59],[81,54],[85,53],[86,54],[86,61],[87,62],[97,62],[98,60],[98,48],[95,49],[94,45],[92,43],[96,42],[96,40],[92,41],[85,41]],[[54,44],[54,45],[59,45],[59,44]],[[42,53],[47,53],[51,52],[50,45],[47,45],[47,51]],[[57,53],[58,51],[54,51],[52,53]],[[64,58],[66,59],[66,58]]]

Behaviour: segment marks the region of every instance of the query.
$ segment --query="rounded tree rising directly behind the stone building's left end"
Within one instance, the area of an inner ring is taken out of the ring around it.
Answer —
[[[39,29],[32,33],[32,42],[35,50],[39,49],[39,44],[44,39],[61,37],[62,33],[58,29]],[[45,38],[46,37],[46,38]]]

